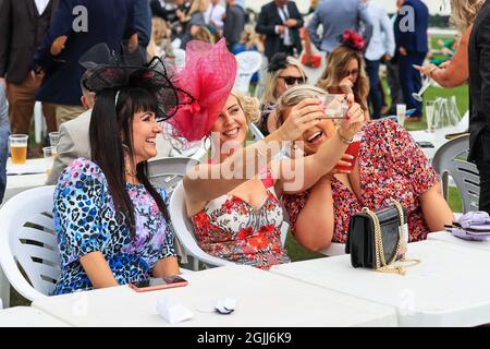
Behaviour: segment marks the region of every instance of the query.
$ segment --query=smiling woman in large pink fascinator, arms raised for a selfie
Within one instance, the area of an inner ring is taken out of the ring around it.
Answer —
[[[176,84],[196,100],[168,122],[187,141],[211,137],[211,160],[192,168],[183,180],[187,216],[199,246],[213,256],[268,269],[290,262],[280,240],[279,197],[304,191],[335,165],[348,164],[341,160],[342,154],[362,128],[364,111],[350,96],[347,118],[335,136],[311,156],[278,160],[286,142],[324,117],[321,100],[302,100],[277,131],[245,146],[247,124],[259,116],[259,103],[232,92],[235,76],[236,61],[224,40],[191,41]]]

